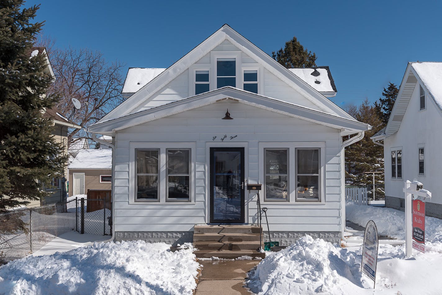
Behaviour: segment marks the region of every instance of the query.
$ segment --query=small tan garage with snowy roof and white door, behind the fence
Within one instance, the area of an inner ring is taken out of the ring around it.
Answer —
[[[112,150],[80,150],[69,165],[69,196],[86,194],[88,189],[111,187]]]

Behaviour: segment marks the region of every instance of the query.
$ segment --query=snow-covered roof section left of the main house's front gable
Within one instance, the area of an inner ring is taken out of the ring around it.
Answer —
[[[122,93],[135,93],[164,72],[165,68],[129,68]]]

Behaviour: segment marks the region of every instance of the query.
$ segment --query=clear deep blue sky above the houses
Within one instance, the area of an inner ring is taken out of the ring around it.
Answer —
[[[339,106],[374,102],[408,61],[442,61],[442,2],[27,1],[58,47],[101,51],[129,67],[167,68],[228,23],[268,54],[296,36],[328,65]]]

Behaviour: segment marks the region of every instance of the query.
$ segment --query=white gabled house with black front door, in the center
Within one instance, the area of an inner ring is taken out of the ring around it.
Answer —
[[[245,185],[260,183],[274,240],[340,241],[344,146],[370,126],[324,96],[336,93],[328,68],[300,79],[224,25],[160,72],[128,73],[129,98],[88,128],[114,137],[116,240],[189,242],[195,224],[256,224]]]

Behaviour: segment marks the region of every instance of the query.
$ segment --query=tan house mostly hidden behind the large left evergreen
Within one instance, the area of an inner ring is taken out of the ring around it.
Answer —
[[[44,69],[44,72],[47,75],[52,76],[53,79],[55,79],[55,75],[52,70],[52,66],[49,61],[49,57],[46,53],[46,48],[44,47],[33,47],[30,52],[30,57],[34,57],[38,54],[44,54],[46,55],[46,67]],[[44,117],[49,118],[53,122],[53,131],[52,135],[57,143],[61,143],[64,146],[63,149],[63,155],[66,155],[68,153],[68,128],[75,128],[80,129],[81,127],[79,125],[76,125],[72,122],[70,122],[62,113],[60,110],[57,110],[56,108],[47,109],[45,113],[43,114]],[[66,163],[67,164],[67,163]],[[65,172],[64,176],[66,179],[68,179],[68,168],[67,165],[65,166]],[[62,180],[60,178],[53,178],[52,184],[55,188],[46,188],[46,191],[50,192],[50,195],[48,197],[45,197],[42,200],[35,200],[31,201],[30,204],[27,205],[27,207],[35,207],[40,206],[42,204],[52,204],[52,203],[58,203],[64,200],[64,196],[62,193]]]

